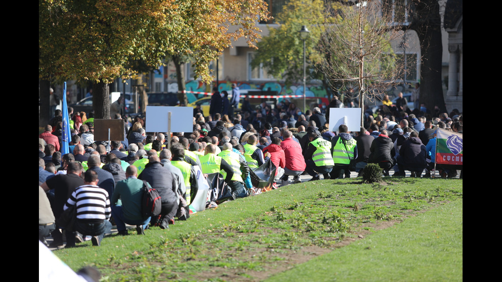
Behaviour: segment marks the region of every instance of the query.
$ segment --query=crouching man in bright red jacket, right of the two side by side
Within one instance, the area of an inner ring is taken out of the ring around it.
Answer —
[[[284,150],[286,157],[286,166],[284,167],[284,177],[282,178],[282,185],[289,185],[291,181],[289,176],[294,176],[294,183],[300,183],[302,180],[300,176],[303,171],[305,171],[305,159],[302,155],[302,147],[300,143],[292,139],[293,133],[286,130],[283,132],[282,136],[284,141],[281,142],[281,148]]]

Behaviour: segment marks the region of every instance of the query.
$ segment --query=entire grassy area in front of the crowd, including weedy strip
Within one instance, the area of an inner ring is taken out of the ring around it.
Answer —
[[[54,253],[109,281],[461,280],[462,199],[455,179],[307,182]]]

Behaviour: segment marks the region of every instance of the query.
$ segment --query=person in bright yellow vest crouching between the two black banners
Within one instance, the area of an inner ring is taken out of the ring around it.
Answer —
[[[235,153],[231,143],[223,144],[223,150],[218,157],[223,158],[234,171],[234,176],[232,177],[231,183],[228,184],[232,188],[232,192],[235,194],[236,198],[243,198],[249,196],[247,190],[244,189],[244,179],[247,178],[249,173],[249,167],[244,157],[240,154]],[[226,173],[223,173],[223,177]]]

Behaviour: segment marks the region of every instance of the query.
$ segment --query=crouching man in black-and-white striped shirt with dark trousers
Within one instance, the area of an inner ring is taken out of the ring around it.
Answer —
[[[91,241],[93,246],[100,246],[105,233],[110,233],[112,224],[110,223],[110,199],[108,192],[97,186],[99,182],[95,171],[87,170],[84,176],[84,185],[73,191],[65,204],[64,209],[75,205],[77,219],[74,230],[83,235],[93,236]],[[75,246],[75,236],[67,237],[67,246]]]

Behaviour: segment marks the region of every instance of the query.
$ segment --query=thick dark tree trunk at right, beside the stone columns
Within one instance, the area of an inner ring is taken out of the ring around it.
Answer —
[[[443,42],[437,0],[417,2],[410,29],[419,36],[421,52],[420,102],[433,113],[434,106],[446,112],[441,77]]]

